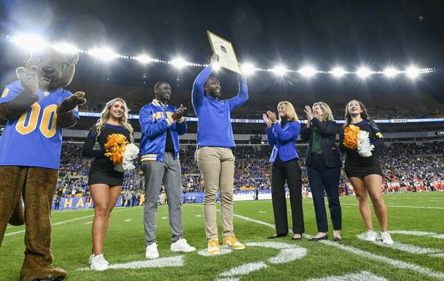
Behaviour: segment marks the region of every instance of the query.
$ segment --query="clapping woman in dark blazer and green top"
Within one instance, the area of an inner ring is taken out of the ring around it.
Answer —
[[[327,103],[314,103],[313,110],[305,106],[307,126],[302,128],[300,138],[308,141],[307,176],[313,196],[314,211],[318,234],[309,241],[328,239],[327,214],[324,194],[327,194],[328,207],[332,217],[334,241],[341,238],[341,204],[339,203],[339,178],[341,176],[341,158],[335,145],[338,126],[333,121],[332,110]]]

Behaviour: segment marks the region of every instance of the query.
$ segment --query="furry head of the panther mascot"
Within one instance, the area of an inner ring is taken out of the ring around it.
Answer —
[[[71,83],[77,61],[75,52],[65,53],[46,47],[31,53],[25,68],[36,71],[40,89],[51,91]]]

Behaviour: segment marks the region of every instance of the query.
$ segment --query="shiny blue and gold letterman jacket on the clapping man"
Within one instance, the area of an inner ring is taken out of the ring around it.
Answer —
[[[177,108],[173,105],[163,105],[157,99],[144,105],[139,113],[140,130],[142,140],[140,142],[141,161],[162,162],[167,143],[167,132],[170,130],[174,145],[174,159],[179,157],[179,135],[187,132],[185,118],[174,121],[171,115]]]

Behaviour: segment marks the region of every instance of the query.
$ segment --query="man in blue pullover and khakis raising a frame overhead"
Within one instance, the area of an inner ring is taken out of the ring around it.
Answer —
[[[203,214],[208,253],[219,255],[219,237],[216,223],[216,199],[221,194],[223,244],[234,249],[244,249],[244,244],[234,236],[233,228],[233,181],[235,146],[230,112],[248,100],[244,77],[239,76],[239,94],[232,99],[220,100],[219,80],[210,77],[219,56],[212,56],[212,63],[203,69],[194,81],[191,94],[194,112],[198,117],[196,160],[205,180]]]

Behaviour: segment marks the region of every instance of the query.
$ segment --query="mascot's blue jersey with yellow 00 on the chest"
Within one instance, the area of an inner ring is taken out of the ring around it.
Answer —
[[[17,80],[6,86],[0,103],[8,103],[24,91]],[[71,92],[38,91],[39,100],[16,119],[8,120],[0,137],[0,166],[60,168],[62,128],[57,125],[57,105]],[[78,111],[72,110],[78,119]]]

